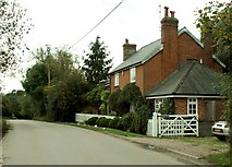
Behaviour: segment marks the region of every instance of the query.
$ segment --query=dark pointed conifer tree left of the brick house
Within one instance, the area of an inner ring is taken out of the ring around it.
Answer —
[[[82,68],[88,82],[99,84],[107,80],[108,72],[112,67],[112,59],[108,59],[108,57],[107,47],[97,36],[96,40],[89,45],[89,52],[86,53],[84,67]]]

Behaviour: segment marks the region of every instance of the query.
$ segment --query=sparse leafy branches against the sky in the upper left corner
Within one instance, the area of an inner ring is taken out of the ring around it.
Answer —
[[[26,10],[16,1],[0,1],[0,73],[16,70],[25,51],[23,38],[32,28]]]

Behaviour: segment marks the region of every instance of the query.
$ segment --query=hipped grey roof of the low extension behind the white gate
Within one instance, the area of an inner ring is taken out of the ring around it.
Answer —
[[[219,83],[220,80],[219,76],[220,73],[197,61],[187,61],[164,81],[151,88],[145,96],[219,96],[220,93],[216,88],[216,84]]]

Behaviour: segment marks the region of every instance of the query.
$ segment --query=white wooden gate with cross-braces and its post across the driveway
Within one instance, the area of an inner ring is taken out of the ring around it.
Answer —
[[[154,112],[147,134],[152,136],[199,135],[198,118],[192,115],[160,115]]]

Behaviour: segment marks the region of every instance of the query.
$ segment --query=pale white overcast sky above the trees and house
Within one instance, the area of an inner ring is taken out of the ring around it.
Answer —
[[[77,43],[70,51],[80,57],[88,51],[88,45],[97,36],[108,46],[113,67],[122,62],[122,45],[125,38],[137,45],[137,50],[160,38],[160,19],[163,8],[175,11],[179,28],[186,26],[197,38],[199,31],[194,22],[194,11],[204,8],[209,0],[17,0],[27,9],[34,28],[25,38],[30,50],[51,45],[72,46],[112,12],[90,34]],[[160,14],[161,11],[161,14]],[[21,88],[21,79],[9,79],[5,92]]]

